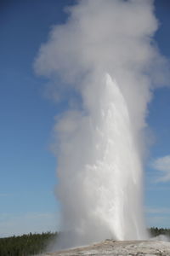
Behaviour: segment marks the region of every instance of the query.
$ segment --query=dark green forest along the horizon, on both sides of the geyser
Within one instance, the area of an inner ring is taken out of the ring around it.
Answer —
[[[150,236],[166,235],[170,238],[170,229],[152,227],[148,229]],[[28,256],[44,253],[48,244],[57,239],[59,233],[46,232],[42,234],[28,234],[0,238],[1,256]]]

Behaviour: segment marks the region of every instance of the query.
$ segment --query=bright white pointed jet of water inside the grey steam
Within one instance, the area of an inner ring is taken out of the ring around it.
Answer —
[[[116,81],[109,74],[104,77],[101,95],[96,101],[97,113],[90,114],[94,158],[89,166],[82,166],[85,173],[82,189],[90,191],[88,201],[93,201],[89,215],[95,215],[113,238],[144,239],[142,166],[133,124]]]

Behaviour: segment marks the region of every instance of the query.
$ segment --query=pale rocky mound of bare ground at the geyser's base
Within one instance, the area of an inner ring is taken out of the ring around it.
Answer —
[[[136,256],[168,256],[168,241],[113,241],[106,240],[87,247],[77,247],[43,256],[77,256],[77,255],[136,255]]]

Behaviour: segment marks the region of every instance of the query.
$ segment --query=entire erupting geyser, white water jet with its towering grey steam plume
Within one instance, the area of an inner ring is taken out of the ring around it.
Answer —
[[[35,62],[71,102],[54,127],[65,247],[144,239],[145,116],[166,62],[153,1],[82,0],[67,11]]]

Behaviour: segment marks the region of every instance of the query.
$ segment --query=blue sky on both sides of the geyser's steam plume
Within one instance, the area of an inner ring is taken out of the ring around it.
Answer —
[[[66,108],[52,101],[33,71],[50,27],[65,22],[73,0],[0,2],[0,236],[58,229],[54,197],[57,160],[50,150],[54,117]],[[156,42],[170,58],[170,2],[156,0]],[[170,82],[169,82],[170,85]],[[155,91],[148,124],[152,144],[145,164],[147,224],[170,223],[170,87]]]

